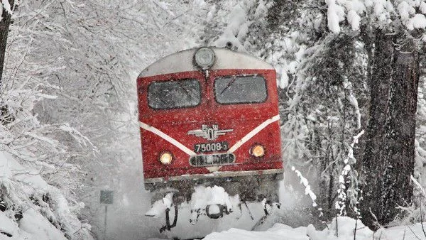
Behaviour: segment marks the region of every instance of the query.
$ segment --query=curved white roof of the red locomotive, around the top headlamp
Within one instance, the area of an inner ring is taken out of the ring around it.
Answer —
[[[219,69],[274,69],[272,65],[248,55],[238,53],[226,48],[210,48],[214,51],[216,60],[210,70]],[[161,58],[152,65],[146,67],[139,77],[150,77],[175,72],[198,71],[199,68],[193,64],[195,51],[198,48],[183,50],[165,58]]]

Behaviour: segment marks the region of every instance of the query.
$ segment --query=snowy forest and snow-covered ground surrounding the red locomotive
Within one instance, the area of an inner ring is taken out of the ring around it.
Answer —
[[[426,239],[425,29],[424,0],[1,0],[0,239]],[[203,46],[277,72],[282,206],[160,234],[136,79]]]

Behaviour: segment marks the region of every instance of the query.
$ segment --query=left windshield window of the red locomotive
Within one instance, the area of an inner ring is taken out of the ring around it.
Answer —
[[[200,104],[198,80],[152,82],[148,86],[148,105],[153,109],[177,109]]]

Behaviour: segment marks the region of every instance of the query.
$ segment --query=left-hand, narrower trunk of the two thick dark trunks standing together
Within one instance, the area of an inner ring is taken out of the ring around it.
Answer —
[[[361,178],[364,180],[363,200],[360,209],[363,222],[373,227],[379,209],[381,196],[381,156],[383,155],[383,140],[385,138],[386,115],[388,112],[388,96],[392,77],[392,36],[378,32],[374,43],[374,54],[371,60],[370,87],[370,119],[366,131],[366,147],[362,162]]]

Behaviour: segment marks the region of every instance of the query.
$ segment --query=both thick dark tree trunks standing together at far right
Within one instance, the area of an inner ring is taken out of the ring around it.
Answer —
[[[370,120],[362,175],[363,222],[371,229],[386,225],[398,205],[410,204],[414,170],[415,112],[419,60],[415,45],[395,49],[392,36],[378,33],[371,75]]]

